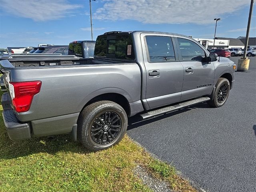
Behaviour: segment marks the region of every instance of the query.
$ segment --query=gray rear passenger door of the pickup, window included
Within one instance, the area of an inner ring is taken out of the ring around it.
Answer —
[[[174,52],[173,35],[142,33],[146,68],[146,101],[149,108],[179,102],[184,68]]]

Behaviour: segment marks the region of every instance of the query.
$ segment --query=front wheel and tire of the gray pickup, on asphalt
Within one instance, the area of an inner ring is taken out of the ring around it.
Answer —
[[[219,78],[216,83],[216,89],[214,93],[214,97],[212,100],[207,103],[212,107],[221,107],[223,106],[230,92],[230,83],[226,78]]]

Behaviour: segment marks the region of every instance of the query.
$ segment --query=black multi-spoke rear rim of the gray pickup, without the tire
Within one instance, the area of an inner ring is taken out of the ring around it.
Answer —
[[[91,127],[92,140],[99,145],[113,142],[120,133],[122,120],[112,111],[104,112],[95,118]]]

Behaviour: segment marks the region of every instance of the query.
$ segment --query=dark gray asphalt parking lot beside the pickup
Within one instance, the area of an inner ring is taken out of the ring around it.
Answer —
[[[135,116],[128,135],[198,189],[256,191],[256,56],[248,72],[235,73],[221,108],[198,104],[143,122]]]

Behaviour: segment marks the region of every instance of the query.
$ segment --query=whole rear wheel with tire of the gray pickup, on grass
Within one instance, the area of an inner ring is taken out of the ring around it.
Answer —
[[[107,100],[94,102],[78,117],[78,140],[87,150],[104,150],[122,140],[127,125],[126,112],[120,105]]]

